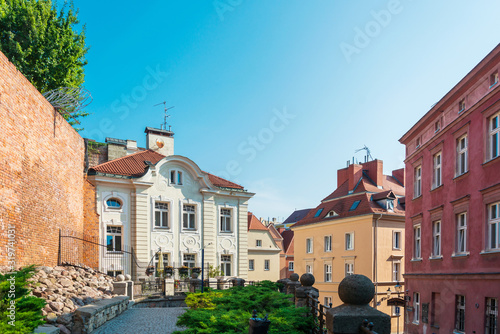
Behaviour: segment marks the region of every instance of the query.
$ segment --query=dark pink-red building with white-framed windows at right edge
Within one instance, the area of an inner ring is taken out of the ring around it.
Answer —
[[[401,139],[406,333],[498,333],[500,45]]]

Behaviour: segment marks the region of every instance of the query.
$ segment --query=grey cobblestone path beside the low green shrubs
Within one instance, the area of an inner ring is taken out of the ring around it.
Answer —
[[[186,307],[131,308],[106,322],[92,334],[169,334],[177,327],[177,317]]]

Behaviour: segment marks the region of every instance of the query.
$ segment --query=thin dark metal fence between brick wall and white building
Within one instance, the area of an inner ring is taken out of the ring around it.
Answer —
[[[110,276],[130,274],[133,280],[146,269],[137,263],[133,247],[69,230],[59,230],[58,264],[90,267]]]

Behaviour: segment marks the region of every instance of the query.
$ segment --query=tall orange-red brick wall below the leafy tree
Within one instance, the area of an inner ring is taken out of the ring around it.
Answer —
[[[55,265],[59,229],[83,231],[84,142],[0,52],[0,265]]]

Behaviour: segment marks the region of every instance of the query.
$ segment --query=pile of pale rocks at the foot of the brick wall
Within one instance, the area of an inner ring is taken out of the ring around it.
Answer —
[[[89,267],[38,267],[30,279],[32,294],[47,301],[42,310],[49,323],[62,333],[70,333],[73,312],[80,306],[112,298],[113,277]]]

